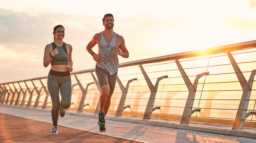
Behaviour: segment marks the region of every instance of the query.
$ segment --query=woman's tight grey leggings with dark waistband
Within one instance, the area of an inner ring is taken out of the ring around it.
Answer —
[[[48,74],[47,79],[48,90],[52,99],[52,119],[53,126],[57,126],[59,118],[60,99],[59,91],[61,95],[61,105],[64,109],[68,109],[71,105],[71,76],[55,76]]]

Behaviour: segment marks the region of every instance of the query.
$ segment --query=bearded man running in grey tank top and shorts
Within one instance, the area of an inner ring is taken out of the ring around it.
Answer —
[[[93,36],[86,46],[86,50],[97,62],[95,71],[101,89],[98,125],[99,130],[105,132],[105,115],[108,112],[117,81],[119,68],[117,55],[128,58],[129,52],[126,49],[124,38],[113,31],[113,15],[104,15],[102,22],[105,30]],[[98,44],[98,54],[94,53],[92,49],[96,44]]]

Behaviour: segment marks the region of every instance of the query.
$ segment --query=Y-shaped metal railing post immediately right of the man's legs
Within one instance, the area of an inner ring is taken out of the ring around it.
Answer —
[[[119,77],[117,76],[117,83],[118,83],[119,87],[121,88],[122,96],[121,96],[121,98],[120,98],[120,102],[119,102],[119,104],[118,104],[117,112],[116,112],[116,115],[115,115],[115,116],[122,116],[122,113],[123,113],[123,110],[124,110],[125,98],[126,98],[126,95],[127,95],[127,91],[128,91],[128,88],[129,88],[129,84],[130,84],[132,81],[134,81],[134,80],[137,80],[137,78],[128,80],[128,82],[127,82],[127,84],[126,84],[126,87],[124,88],[122,82],[120,81]]]

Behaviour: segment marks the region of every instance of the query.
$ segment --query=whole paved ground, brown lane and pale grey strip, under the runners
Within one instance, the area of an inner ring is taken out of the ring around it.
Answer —
[[[50,135],[51,113],[0,104],[0,142],[145,142],[145,143],[256,143],[255,138],[220,135],[117,120],[106,120],[100,132],[96,118],[66,114],[59,117],[58,135]]]

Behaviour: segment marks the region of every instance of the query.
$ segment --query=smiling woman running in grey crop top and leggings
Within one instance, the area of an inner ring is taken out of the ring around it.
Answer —
[[[51,63],[51,70],[48,74],[47,86],[52,99],[53,128],[51,135],[58,134],[58,118],[65,116],[65,109],[71,105],[71,76],[73,62],[71,59],[72,46],[64,43],[65,28],[57,25],[53,28],[54,42],[45,46],[44,67]],[[59,91],[61,101],[59,98]]]

